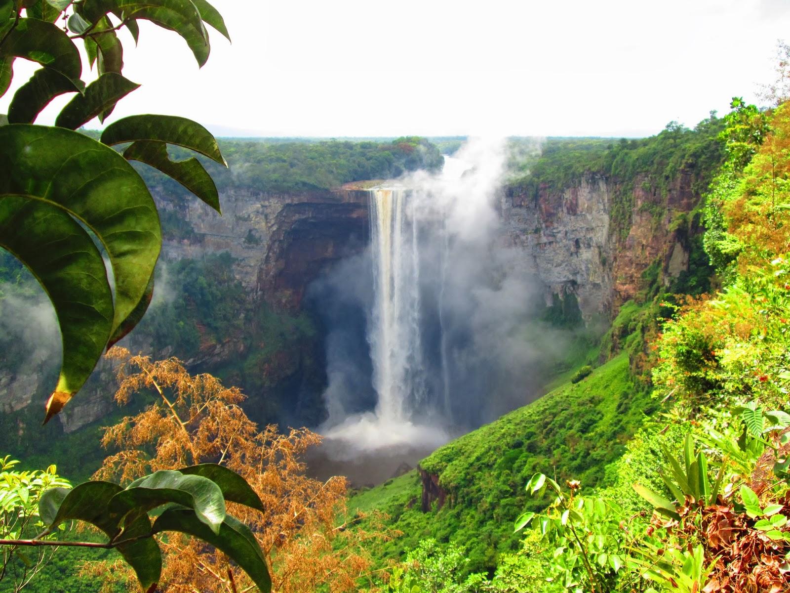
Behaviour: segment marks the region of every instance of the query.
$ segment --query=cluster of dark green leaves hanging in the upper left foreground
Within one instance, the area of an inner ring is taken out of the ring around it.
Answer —
[[[141,20],[179,33],[199,66],[210,51],[204,23],[229,38],[206,0],[0,0],[0,96],[17,58],[42,66],[0,116],[0,247],[28,266],[58,315],[63,360],[45,421],[82,387],[105,346],[134,328],[151,300],[160,221],[127,161],[158,168],[220,210],[216,186],[197,159],[171,161],[167,154],[167,145],[179,145],[225,164],[216,140],[198,123],[133,115],[111,123],[98,141],[73,131],[94,117],[103,122],[139,86],[122,76],[117,32],[125,28],[137,41]],[[96,67],[88,84],[78,41]],[[64,93],[75,94],[55,127],[33,125]],[[115,145],[126,145],[122,155]]]

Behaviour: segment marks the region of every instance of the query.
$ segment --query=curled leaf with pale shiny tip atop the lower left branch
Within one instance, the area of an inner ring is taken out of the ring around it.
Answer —
[[[175,503],[193,508],[201,522],[219,533],[225,518],[225,500],[218,485],[199,475],[176,470],[156,471],[135,480],[110,501],[110,511],[124,515],[135,508],[156,508]]]

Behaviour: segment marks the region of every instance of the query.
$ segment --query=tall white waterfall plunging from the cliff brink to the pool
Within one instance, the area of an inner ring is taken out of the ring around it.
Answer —
[[[328,400],[340,412],[321,429],[333,459],[357,459],[362,451],[431,451],[450,439],[455,413],[469,415],[453,393],[487,391],[465,383],[474,373],[468,366],[474,335],[469,319],[459,315],[473,314],[476,293],[468,278],[457,277],[470,269],[480,275],[496,220],[491,196],[501,159],[490,158],[497,154],[491,145],[476,151],[466,153],[470,159],[445,157],[440,176],[423,173],[369,190],[367,344],[376,405],[347,415],[342,399]],[[345,372],[340,365],[339,376]]]

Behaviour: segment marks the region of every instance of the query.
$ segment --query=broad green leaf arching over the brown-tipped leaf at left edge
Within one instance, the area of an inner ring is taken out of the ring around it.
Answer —
[[[0,127],[0,198],[13,195],[57,206],[100,240],[115,278],[109,338],[137,307],[159,256],[159,215],[145,183],[115,150],[84,134],[12,124]],[[64,371],[47,402],[47,420],[85,383],[83,373],[67,372],[74,356],[64,349]]]

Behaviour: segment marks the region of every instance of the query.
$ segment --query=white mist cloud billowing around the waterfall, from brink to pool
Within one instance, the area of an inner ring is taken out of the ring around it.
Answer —
[[[502,138],[472,139],[443,172],[382,184],[382,204],[402,200],[386,206],[403,210],[391,214],[402,217],[392,223],[402,236],[377,239],[375,217],[389,224],[390,213],[371,202],[371,244],[310,287],[327,329],[319,432],[330,459],[422,455],[538,395],[542,369],[568,337],[548,328],[540,343],[530,335],[542,289],[498,216],[509,157]],[[396,266],[391,284],[378,278],[382,261]],[[399,301],[397,312],[382,291]]]

